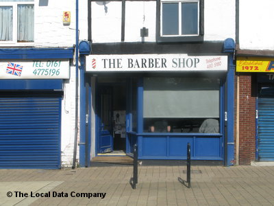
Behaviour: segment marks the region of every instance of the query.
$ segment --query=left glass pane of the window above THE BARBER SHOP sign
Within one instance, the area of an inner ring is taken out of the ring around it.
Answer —
[[[179,34],[178,8],[178,3],[162,3],[162,35]]]

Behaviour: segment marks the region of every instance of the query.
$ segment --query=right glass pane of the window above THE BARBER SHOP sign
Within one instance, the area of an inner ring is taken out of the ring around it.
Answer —
[[[182,34],[198,34],[198,3],[182,3]]]

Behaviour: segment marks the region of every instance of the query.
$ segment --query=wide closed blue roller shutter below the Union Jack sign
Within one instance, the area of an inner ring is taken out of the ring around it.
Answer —
[[[0,98],[0,168],[60,168],[61,98],[16,97]]]

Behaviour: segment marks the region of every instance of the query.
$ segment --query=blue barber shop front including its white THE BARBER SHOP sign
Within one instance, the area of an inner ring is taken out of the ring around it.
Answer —
[[[136,144],[138,159],[182,160],[189,143],[192,160],[233,164],[233,54],[93,54],[82,65],[91,158]]]

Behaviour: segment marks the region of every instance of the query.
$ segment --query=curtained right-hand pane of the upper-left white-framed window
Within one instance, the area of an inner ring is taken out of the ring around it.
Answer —
[[[34,5],[18,5],[17,40],[34,41]]]

